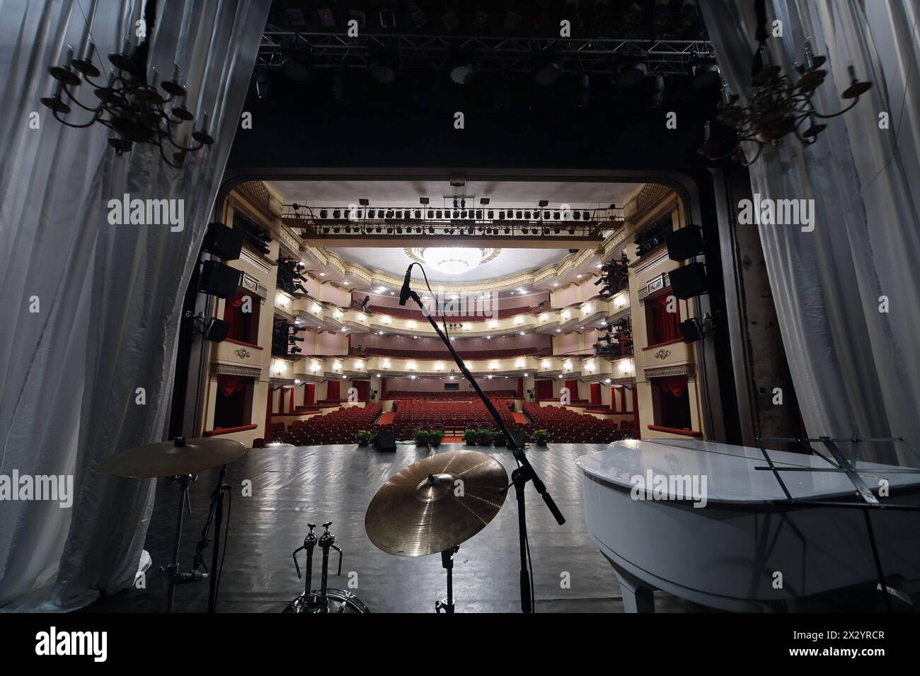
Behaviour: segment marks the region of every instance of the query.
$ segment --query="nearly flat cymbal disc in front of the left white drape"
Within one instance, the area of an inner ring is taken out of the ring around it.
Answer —
[[[244,453],[246,446],[230,439],[189,439],[184,445],[158,441],[110,455],[99,464],[99,472],[134,479],[195,475],[239,460]]]

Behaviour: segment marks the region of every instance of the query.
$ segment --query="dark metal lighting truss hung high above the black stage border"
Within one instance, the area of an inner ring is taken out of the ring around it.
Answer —
[[[281,67],[292,45],[308,45],[313,68],[367,68],[375,52],[387,50],[397,71],[450,72],[458,50],[475,54],[477,72],[531,73],[534,54],[558,54],[564,71],[615,74],[619,56],[643,55],[648,74],[688,74],[695,58],[715,57],[708,40],[631,40],[621,38],[536,38],[512,36],[392,35],[277,30],[262,32],[257,66]]]

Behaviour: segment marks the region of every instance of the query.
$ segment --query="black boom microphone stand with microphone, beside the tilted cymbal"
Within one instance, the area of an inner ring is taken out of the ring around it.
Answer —
[[[553,498],[550,497],[549,491],[546,490],[546,486],[540,480],[539,475],[536,474],[533,465],[531,465],[530,461],[527,460],[527,456],[523,453],[523,448],[518,446],[517,441],[514,440],[512,433],[505,425],[505,421],[501,419],[499,411],[495,408],[495,405],[492,404],[492,400],[483,393],[482,388],[479,387],[479,384],[476,382],[476,378],[474,378],[473,374],[466,369],[466,365],[464,364],[463,360],[460,359],[460,355],[456,353],[454,346],[451,345],[451,341],[446,336],[444,336],[441,327],[438,327],[438,323],[434,321],[434,318],[431,316],[428,308],[426,308],[425,305],[421,302],[419,294],[408,288],[409,273],[411,269],[412,266],[409,266],[409,269],[406,270],[406,279],[403,282],[402,291],[399,293],[399,304],[405,305],[406,299],[411,298],[417,305],[419,305],[422,315],[428,317],[428,321],[431,324],[431,327],[434,328],[435,333],[438,334],[438,338],[441,338],[443,344],[447,346],[448,350],[450,350],[451,356],[454,358],[454,361],[456,362],[457,367],[460,369],[460,372],[462,372],[466,377],[466,380],[473,385],[473,389],[476,390],[476,394],[482,400],[482,403],[486,405],[486,408],[492,418],[495,419],[499,429],[505,435],[505,440],[508,443],[509,450],[514,455],[514,459],[518,462],[517,469],[512,472],[512,485],[514,486],[514,497],[517,498],[518,504],[518,540],[521,547],[521,612],[533,613],[534,600],[530,593],[530,573],[527,570],[527,517],[525,511],[526,508],[524,505],[524,487],[527,485],[527,482],[534,482],[536,492],[539,493],[540,497],[543,498],[543,501],[546,502],[546,507],[549,508],[549,511],[553,514],[553,518],[556,519],[556,522],[560,526],[566,522],[566,519],[564,516],[562,516],[562,512],[559,511],[556,503],[553,501]]]

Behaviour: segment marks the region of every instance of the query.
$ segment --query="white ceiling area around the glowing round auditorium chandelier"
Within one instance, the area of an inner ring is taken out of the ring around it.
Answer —
[[[339,255],[342,260],[361,263],[365,268],[379,269],[402,277],[412,262],[402,248],[368,248],[362,246],[330,246],[328,251]],[[523,270],[540,269],[549,263],[564,258],[569,249],[513,249],[503,248],[499,255],[464,275],[448,275],[425,266],[429,281],[464,282],[494,280]],[[421,281],[418,272],[413,279]]]

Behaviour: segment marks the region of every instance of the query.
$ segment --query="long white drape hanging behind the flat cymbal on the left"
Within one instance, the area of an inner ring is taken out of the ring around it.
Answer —
[[[78,43],[90,4],[0,0],[0,474],[74,475],[75,487],[70,508],[0,502],[5,610],[73,609],[132,583],[154,484],[96,468],[111,453],[162,439],[182,297],[270,6],[157,4],[149,67],[165,79],[174,61],[182,65],[187,105],[210,113],[216,139],[174,169],[153,146],[117,157],[107,129],[67,128],[40,105],[52,86],[47,67]],[[143,5],[99,2],[92,38],[104,74]],[[95,102],[86,85],[77,97]],[[88,118],[72,108],[66,119]],[[109,200],[126,193],[183,200],[184,228],[109,224]]]

